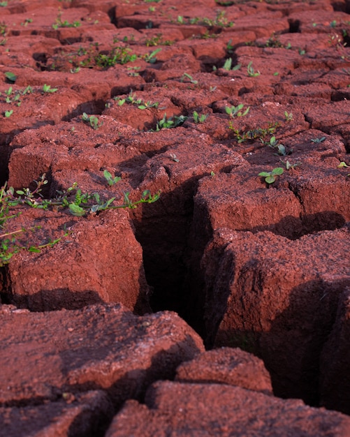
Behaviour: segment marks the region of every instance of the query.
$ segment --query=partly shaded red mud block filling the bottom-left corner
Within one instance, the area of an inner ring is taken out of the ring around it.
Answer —
[[[61,400],[42,405],[0,406],[0,429],[6,437],[97,437],[112,417],[105,392],[64,393]]]

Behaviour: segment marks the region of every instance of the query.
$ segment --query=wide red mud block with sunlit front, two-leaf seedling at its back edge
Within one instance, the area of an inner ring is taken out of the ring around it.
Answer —
[[[306,160],[306,158],[305,158]],[[308,161],[308,162],[307,162]],[[288,238],[334,229],[350,220],[350,180],[339,159],[307,158],[302,172],[284,171],[267,189],[259,172],[272,166],[242,166],[203,178],[194,200],[194,235],[207,241],[212,230],[271,230]],[[326,161],[326,159],[325,159]]]

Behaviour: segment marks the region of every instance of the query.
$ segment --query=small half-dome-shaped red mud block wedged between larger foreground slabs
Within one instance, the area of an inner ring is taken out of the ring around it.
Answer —
[[[208,350],[176,370],[180,383],[222,383],[272,394],[268,371],[258,357],[239,348]]]

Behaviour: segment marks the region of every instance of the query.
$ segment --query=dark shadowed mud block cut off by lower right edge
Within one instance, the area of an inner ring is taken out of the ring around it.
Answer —
[[[350,415],[350,288],[340,296],[337,318],[321,355],[321,405]]]

